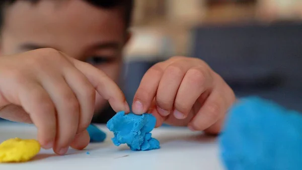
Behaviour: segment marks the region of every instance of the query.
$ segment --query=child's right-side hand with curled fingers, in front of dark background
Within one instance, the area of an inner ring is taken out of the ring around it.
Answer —
[[[174,57],[146,72],[132,110],[152,112],[157,127],[165,122],[216,134],[234,101],[233,90],[202,60]]]

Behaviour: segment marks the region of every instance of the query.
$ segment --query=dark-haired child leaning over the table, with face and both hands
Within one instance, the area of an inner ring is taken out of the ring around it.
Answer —
[[[41,145],[62,155],[88,145],[86,128],[107,101],[129,112],[116,83],[131,0],[1,3],[1,118],[35,124]],[[133,101],[132,111],[151,112],[157,127],[216,134],[235,95],[203,61],[176,56],[146,72]]]

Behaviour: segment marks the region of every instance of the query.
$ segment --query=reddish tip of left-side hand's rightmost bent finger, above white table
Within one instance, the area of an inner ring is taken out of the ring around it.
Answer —
[[[75,138],[71,142],[70,146],[73,149],[82,150],[86,148],[86,146],[88,146],[89,142],[90,142],[89,133],[87,132],[87,130],[84,130],[79,134],[75,135]]]

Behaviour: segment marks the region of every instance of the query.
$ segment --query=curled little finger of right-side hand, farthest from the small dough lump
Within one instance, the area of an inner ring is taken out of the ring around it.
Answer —
[[[189,123],[188,128],[203,131],[215,124],[225,114],[227,109],[225,98],[218,90],[213,90]]]

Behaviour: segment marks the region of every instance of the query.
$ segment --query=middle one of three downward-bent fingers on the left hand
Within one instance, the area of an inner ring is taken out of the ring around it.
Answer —
[[[67,152],[78,130],[80,106],[77,97],[61,76],[43,75],[41,84],[50,95],[57,112],[57,133],[54,151]]]

